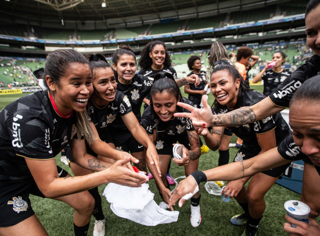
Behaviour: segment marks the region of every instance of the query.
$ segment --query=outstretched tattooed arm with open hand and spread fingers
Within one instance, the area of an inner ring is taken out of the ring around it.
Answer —
[[[252,106],[245,106],[228,113],[213,115],[206,99],[202,99],[202,103],[204,108],[198,109],[183,102],[178,102],[179,106],[188,109],[191,113],[174,113],[174,116],[191,118],[194,128],[209,126],[232,127],[261,120],[284,109],[284,107],[274,105],[266,97]]]

